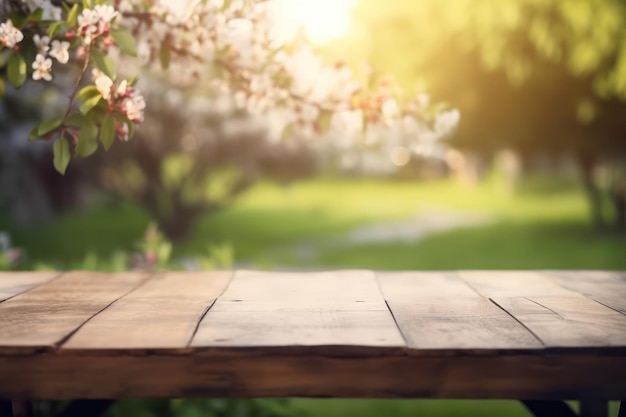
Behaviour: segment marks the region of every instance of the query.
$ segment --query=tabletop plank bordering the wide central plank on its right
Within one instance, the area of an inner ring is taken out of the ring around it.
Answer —
[[[411,348],[541,349],[531,332],[453,273],[378,273],[378,281]]]

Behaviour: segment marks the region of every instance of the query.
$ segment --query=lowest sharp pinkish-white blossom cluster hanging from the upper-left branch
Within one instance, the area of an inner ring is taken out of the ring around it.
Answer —
[[[130,86],[127,80],[115,85],[111,78],[98,69],[93,70],[92,76],[96,89],[107,102],[109,112],[119,111],[131,122],[143,122],[146,101],[139,90]]]

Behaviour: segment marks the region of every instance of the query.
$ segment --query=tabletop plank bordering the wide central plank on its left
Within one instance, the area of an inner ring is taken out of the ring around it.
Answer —
[[[184,349],[232,274],[158,274],[86,323],[62,349]]]

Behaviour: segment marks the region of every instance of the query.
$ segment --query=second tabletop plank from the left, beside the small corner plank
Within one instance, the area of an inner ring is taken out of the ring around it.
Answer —
[[[146,275],[68,272],[0,304],[0,353],[52,348]]]

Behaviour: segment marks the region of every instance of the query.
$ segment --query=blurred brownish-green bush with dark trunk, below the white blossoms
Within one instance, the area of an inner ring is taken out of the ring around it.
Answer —
[[[169,239],[188,237],[201,215],[228,207],[261,179],[289,182],[315,171],[310,147],[271,140],[225,98],[160,85],[148,96],[155,96],[146,110],[151,123],[103,155],[100,173],[107,189],[140,204]]]

